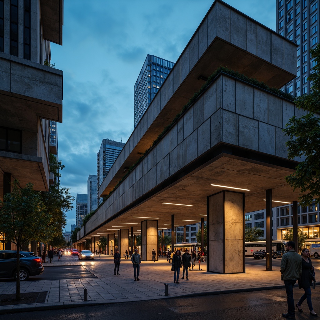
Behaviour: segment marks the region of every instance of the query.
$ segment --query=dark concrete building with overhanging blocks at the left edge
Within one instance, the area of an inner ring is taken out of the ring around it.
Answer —
[[[14,179],[39,191],[53,183],[50,121],[62,122],[63,76],[44,62],[50,42],[62,45],[62,23],[63,0],[0,1],[1,200]]]

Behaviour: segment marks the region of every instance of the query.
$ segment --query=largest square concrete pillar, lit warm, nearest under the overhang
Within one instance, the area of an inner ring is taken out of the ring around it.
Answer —
[[[243,273],[244,193],[224,190],[207,197],[207,268],[217,273]]]

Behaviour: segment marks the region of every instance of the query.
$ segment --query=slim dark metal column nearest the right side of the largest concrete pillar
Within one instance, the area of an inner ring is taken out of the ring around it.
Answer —
[[[272,271],[272,189],[266,190],[267,271]]]

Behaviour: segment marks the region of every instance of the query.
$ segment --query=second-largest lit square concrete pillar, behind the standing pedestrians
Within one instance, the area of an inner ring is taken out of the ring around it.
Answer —
[[[158,260],[158,220],[141,221],[141,259],[151,261],[153,249]]]

